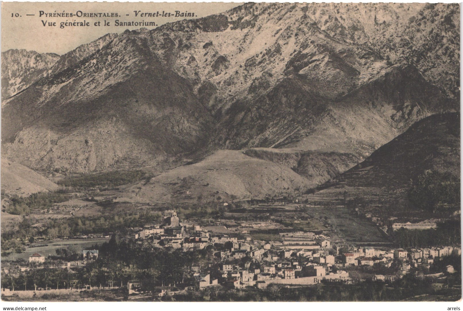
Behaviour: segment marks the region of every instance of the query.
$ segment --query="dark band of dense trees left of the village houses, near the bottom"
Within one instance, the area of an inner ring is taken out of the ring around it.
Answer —
[[[129,251],[130,249],[130,251]],[[197,263],[196,257],[204,257],[195,252],[169,251],[166,249],[133,249],[130,243],[122,243],[116,253],[88,262],[86,266],[69,271],[62,267],[43,267],[29,271],[11,271],[2,274],[4,288],[21,289],[112,287],[126,284],[129,280],[140,280],[146,291],[157,286],[176,286],[189,279],[189,267]]]

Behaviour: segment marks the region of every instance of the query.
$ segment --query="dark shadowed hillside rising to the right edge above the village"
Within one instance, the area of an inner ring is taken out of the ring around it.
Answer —
[[[372,187],[378,180],[384,187],[399,188],[427,170],[460,175],[459,114],[433,115],[413,124],[339,180],[360,187]]]

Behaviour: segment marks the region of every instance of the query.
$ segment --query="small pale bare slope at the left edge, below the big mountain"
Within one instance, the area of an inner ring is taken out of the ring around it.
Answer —
[[[1,189],[4,193],[22,197],[31,193],[55,191],[58,185],[21,164],[2,158]]]

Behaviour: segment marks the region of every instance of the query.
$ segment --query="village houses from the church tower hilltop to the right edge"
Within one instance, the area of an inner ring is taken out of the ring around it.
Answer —
[[[146,226],[138,231],[136,239],[150,239],[154,246],[181,248],[185,251],[214,246],[214,255],[219,258],[219,267],[210,266],[206,271],[192,269],[196,289],[224,285],[231,288],[269,284],[311,285],[321,280],[351,282],[344,269],[348,266],[375,264],[391,267],[399,262],[399,270],[406,274],[411,267],[432,264],[434,258],[461,254],[452,247],[432,249],[375,249],[348,248],[339,255],[345,245],[332,245],[329,238],[316,236],[313,232],[280,233],[279,241],[252,241],[251,238],[213,234],[194,226],[189,233],[180,223],[175,211],[165,218],[163,225]],[[219,244],[219,245],[218,245]],[[247,258],[247,260],[243,260]],[[449,271],[453,267],[449,267]],[[375,275],[375,280],[389,281],[395,276]]]

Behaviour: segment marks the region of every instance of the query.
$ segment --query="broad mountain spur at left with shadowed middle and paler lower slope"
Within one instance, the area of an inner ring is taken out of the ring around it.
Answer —
[[[73,66],[6,103],[9,156],[31,168],[85,172],[126,159],[158,163],[204,144],[208,112],[143,39],[119,36]]]

